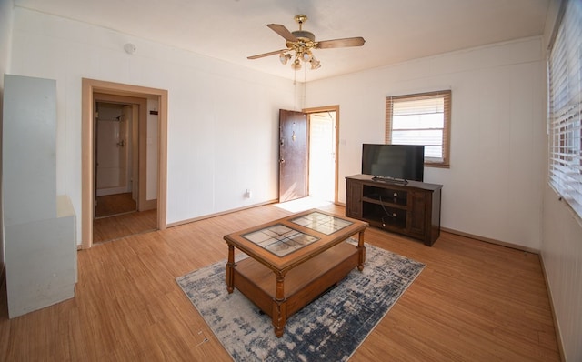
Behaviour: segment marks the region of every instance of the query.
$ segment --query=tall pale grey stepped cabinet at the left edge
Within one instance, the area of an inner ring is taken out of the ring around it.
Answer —
[[[5,75],[2,186],[8,316],[75,296],[75,211],[56,195],[56,82]]]

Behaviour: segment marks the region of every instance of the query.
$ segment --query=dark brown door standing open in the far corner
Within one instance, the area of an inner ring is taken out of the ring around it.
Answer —
[[[279,202],[308,196],[307,114],[279,109]]]

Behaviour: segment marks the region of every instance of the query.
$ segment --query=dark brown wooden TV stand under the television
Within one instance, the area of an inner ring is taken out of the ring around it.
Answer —
[[[440,236],[442,185],[370,175],[346,177],[346,216],[432,246]]]

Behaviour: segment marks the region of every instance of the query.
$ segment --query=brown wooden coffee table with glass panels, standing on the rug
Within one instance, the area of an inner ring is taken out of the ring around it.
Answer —
[[[366,259],[368,224],[312,209],[226,235],[228,293],[238,289],[271,317],[276,337],[286,320]],[[357,236],[357,246],[347,243]],[[235,263],[235,247],[247,256]]]

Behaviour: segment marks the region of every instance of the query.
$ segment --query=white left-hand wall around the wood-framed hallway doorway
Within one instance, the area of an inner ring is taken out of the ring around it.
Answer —
[[[19,7],[13,35],[10,73],[56,80],[56,185],[71,196],[78,235],[83,77],[168,90],[168,224],[276,199],[278,109],[295,104],[291,81]]]

